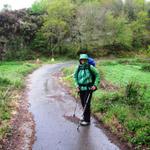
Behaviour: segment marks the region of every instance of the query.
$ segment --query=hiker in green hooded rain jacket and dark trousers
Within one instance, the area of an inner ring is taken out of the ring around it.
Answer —
[[[81,125],[87,126],[90,125],[90,115],[91,115],[90,104],[92,93],[98,87],[98,84],[100,82],[100,76],[97,69],[94,66],[88,64],[87,54],[80,54],[79,63],[80,64],[76,68],[74,73],[74,79],[83,108],[86,104],[86,100],[89,98],[85,111],[83,112],[83,118],[81,118],[80,120]]]

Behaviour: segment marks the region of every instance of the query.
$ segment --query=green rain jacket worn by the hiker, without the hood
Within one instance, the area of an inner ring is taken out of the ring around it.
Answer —
[[[92,74],[91,74],[90,70],[87,69],[87,65],[89,65],[89,64],[88,63],[80,64],[80,67],[83,67],[83,68],[78,71],[78,67],[77,67],[75,70],[75,73],[74,73],[75,86],[80,87],[81,91],[89,90],[90,87],[93,85],[98,87],[98,85],[100,83],[100,75],[99,75],[98,70],[94,66],[90,65],[90,70],[91,70],[92,74],[95,75],[95,82],[90,87],[80,86],[80,85],[88,85],[89,83],[92,83]]]

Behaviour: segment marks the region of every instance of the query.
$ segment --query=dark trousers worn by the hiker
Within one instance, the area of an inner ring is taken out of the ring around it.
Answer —
[[[81,99],[81,104],[82,104],[83,108],[85,107],[85,104],[86,104],[89,94],[90,94],[90,97],[88,99],[88,103],[87,103],[86,109],[83,114],[84,120],[86,122],[90,122],[90,116],[91,116],[91,108],[90,107],[91,107],[92,92],[89,90],[88,91],[80,91],[80,99]]]

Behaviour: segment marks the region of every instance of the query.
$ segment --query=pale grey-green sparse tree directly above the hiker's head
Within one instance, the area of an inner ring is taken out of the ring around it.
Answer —
[[[74,41],[82,46],[100,46],[102,44],[103,21],[106,8],[99,3],[88,3],[78,8]]]

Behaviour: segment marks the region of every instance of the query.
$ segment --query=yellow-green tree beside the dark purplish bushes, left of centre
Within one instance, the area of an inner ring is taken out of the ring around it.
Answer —
[[[47,38],[52,55],[57,48],[61,53],[63,43],[69,38],[74,13],[75,6],[70,0],[55,0],[49,4],[41,31]]]

